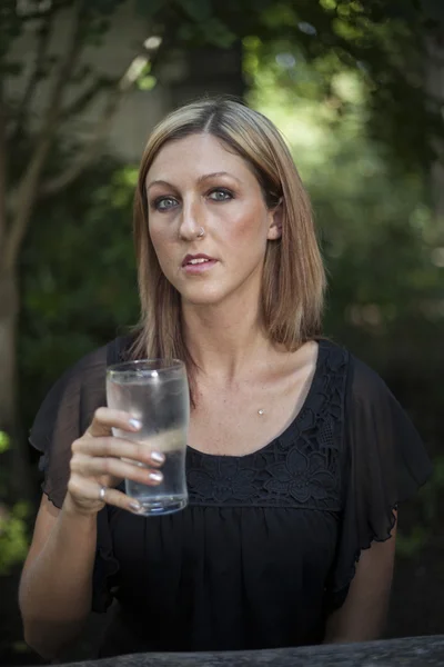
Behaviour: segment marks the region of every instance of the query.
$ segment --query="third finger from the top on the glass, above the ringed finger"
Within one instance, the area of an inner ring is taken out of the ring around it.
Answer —
[[[92,457],[78,454],[71,458],[70,467],[73,475],[85,478],[108,475],[120,479],[131,479],[149,486],[155,486],[163,479],[162,472],[159,470],[113,457]]]

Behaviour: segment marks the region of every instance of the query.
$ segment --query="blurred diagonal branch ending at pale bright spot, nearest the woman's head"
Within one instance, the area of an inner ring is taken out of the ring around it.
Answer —
[[[147,56],[134,58],[115,90],[110,94],[105,109],[97,122],[94,136],[83,153],[65,171],[42,183],[39,190],[40,197],[49,197],[71,185],[99,157],[100,147],[111,128],[122,99],[131,90],[147,62]]]

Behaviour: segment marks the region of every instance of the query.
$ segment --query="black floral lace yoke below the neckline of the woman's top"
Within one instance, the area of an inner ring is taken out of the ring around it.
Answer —
[[[189,448],[190,505],[342,507],[343,415],[347,352],[320,342],[302,410],[272,442],[242,457]]]

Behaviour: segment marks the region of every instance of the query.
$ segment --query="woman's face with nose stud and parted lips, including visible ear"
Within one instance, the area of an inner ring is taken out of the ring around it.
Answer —
[[[185,302],[259,297],[266,243],[281,236],[280,213],[268,209],[241,157],[211,135],[167,143],[147,175],[147,193],[160,266]]]

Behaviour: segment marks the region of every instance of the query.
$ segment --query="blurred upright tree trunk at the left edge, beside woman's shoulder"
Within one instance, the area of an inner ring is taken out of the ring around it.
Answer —
[[[28,446],[17,416],[17,325],[19,289],[16,271],[0,273],[0,430],[11,439],[8,457],[8,495],[11,500],[30,499],[32,481]]]

